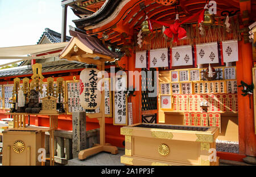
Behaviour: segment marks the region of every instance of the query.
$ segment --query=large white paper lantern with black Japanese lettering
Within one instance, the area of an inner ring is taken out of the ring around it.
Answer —
[[[80,73],[80,104],[82,108],[87,110],[93,110],[101,104],[101,91],[97,89],[98,81],[101,78],[97,78],[99,70],[93,68],[92,65],[87,66],[86,69]]]

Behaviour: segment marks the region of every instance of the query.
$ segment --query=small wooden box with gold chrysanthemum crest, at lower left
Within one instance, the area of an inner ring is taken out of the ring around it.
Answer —
[[[29,129],[8,129],[3,133],[3,166],[35,166],[38,161],[38,149],[42,147],[44,132]],[[44,146],[44,145],[43,145]]]

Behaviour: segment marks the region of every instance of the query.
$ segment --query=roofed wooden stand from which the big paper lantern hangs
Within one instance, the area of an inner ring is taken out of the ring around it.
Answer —
[[[104,45],[100,45],[96,43],[96,40],[91,41],[87,35],[84,35],[79,32],[69,31],[71,35],[73,35],[71,41],[67,47],[60,53],[60,59],[65,58],[69,61],[79,61],[84,62],[86,64],[94,64],[98,66],[98,69],[101,71],[105,71],[105,61],[114,61],[114,56],[110,54],[110,50],[107,49]],[[81,40],[84,38],[84,40]],[[86,41],[90,41],[93,45],[87,43]],[[95,45],[94,45],[95,43]],[[96,47],[96,48],[95,48]],[[97,49],[100,48],[100,50]],[[102,53],[108,54],[102,54]],[[100,60],[95,60],[95,58],[100,58]],[[104,79],[104,74],[102,76]],[[103,83],[104,84],[104,83]],[[89,118],[97,118],[100,124],[100,145],[96,145],[95,147],[81,150],[79,152],[79,159],[85,159],[89,155],[100,153],[101,151],[107,151],[112,154],[117,154],[118,149],[116,146],[111,146],[105,143],[105,92],[101,91],[101,106],[100,113],[88,114]]]

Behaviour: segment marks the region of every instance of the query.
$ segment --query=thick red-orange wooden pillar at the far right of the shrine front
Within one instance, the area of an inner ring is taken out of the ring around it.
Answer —
[[[238,41],[237,83],[241,81],[251,84],[253,81],[253,53],[251,44]],[[242,88],[238,88],[238,130],[240,154],[256,156],[256,135],[254,130],[253,96],[251,96],[251,109],[249,96],[242,96]]]

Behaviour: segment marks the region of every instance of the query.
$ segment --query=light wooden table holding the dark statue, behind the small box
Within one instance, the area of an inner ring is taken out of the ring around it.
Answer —
[[[18,130],[25,130],[25,129],[36,129],[42,130],[43,132],[49,132],[49,153],[50,157],[46,158],[50,161],[50,165],[54,166],[54,130],[58,127],[58,119],[57,117],[61,114],[59,113],[51,113],[50,115],[47,113],[5,113],[5,115],[12,115],[14,116],[14,128]],[[35,115],[35,116],[49,116],[49,128],[26,128],[26,115]],[[44,145],[44,137],[42,137],[42,144]],[[42,162],[44,165],[44,162]]]

